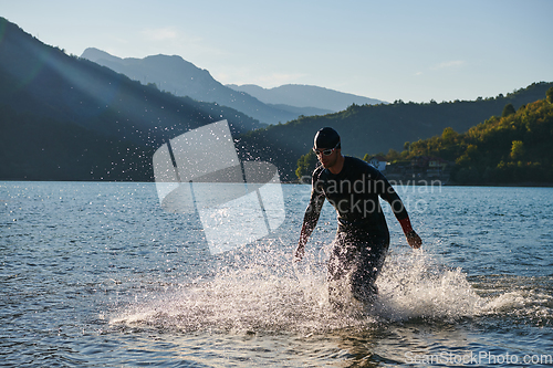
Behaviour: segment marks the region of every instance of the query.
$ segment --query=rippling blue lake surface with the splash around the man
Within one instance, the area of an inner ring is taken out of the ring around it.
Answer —
[[[553,366],[553,189],[397,187],[424,240],[392,244],[371,311],[333,312],[326,203],[292,262],[310,187],[284,223],[211,255],[154,183],[0,182],[0,365]]]

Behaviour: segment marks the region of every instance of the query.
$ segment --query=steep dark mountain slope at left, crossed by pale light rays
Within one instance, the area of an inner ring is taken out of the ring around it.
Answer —
[[[0,180],[152,180],[167,139],[225,118],[236,136],[261,127],[69,56],[3,18],[0,35]]]

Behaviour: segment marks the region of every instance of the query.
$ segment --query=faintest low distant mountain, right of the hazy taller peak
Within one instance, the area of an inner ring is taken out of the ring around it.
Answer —
[[[378,105],[379,99],[357,96],[314,85],[285,84],[274,88],[263,88],[254,84],[227,84],[236,91],[246,92],[265,104],[284,104],[295,107],[311,106],[331,109],[336,113],[346,109],[352,104]],[[322,115],[322,114],[319,114]]]

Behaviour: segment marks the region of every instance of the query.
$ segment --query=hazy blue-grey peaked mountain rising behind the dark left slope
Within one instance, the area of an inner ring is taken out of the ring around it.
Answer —
[[[158,88],[178,96],[189,96],[204,102],[217,102],[220,105],[240,111],[261,123],[285,123],[300,115],[330,113],[327,109],[298,109],[288,106],[267,105],[244,92],[234,91],[222,85],[208,71],[201,70],[177,55],[121,59],[90,48],[83,52],[81,57],[107,66],[144,84],[155,83]]]

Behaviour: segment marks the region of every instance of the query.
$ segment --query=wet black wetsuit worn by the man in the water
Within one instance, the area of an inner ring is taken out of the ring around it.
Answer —
[[[377,293],[375,281],[389,245],[388,227],[378,198],[392,206],[398,220],[407,218],[407,211],[380,171],[347,156],[338,175],[322,166],[313,171],[311,200],[304,218],[307,228],[316,225],[325,198],[336,209],[338,221],[328,260],[331,302],[333,294],[340,294],[333,284],[344,281],[354,297],[371,302]]]

